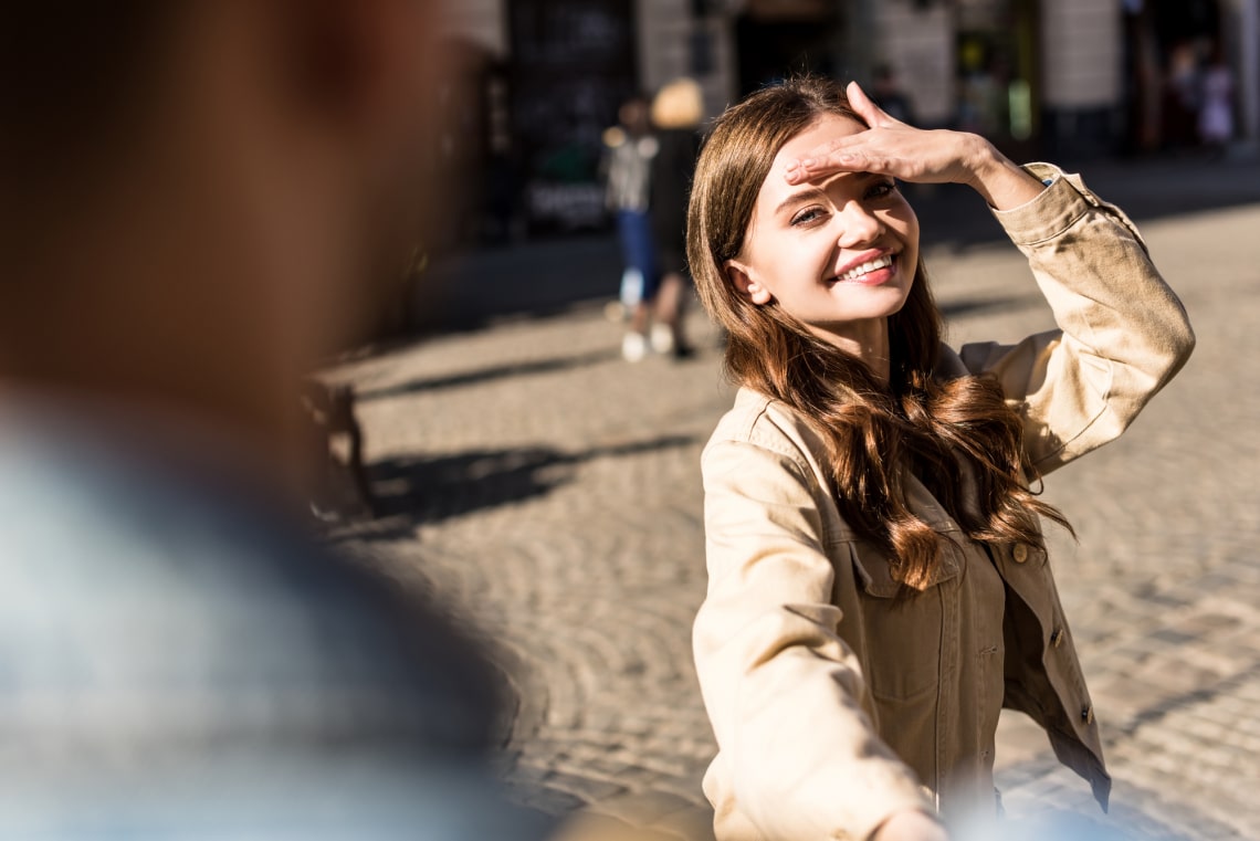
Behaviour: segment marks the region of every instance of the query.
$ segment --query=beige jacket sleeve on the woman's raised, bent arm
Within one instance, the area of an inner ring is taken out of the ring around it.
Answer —
[[[1186,310],[1137,228],[1079,176],[1026,167],[1050,186],[994,215],[1028,258],[1058,330],[1017,345],[965,345],[973,374],[998,378],[1024,420],[1029,463],[1048,473],[1118,437],[1194,347]]]

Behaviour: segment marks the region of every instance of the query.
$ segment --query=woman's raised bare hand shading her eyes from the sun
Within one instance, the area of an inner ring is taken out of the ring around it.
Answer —
[[[853,111],[869,128],[835,137],[804,159],[790,161],[789,184],[818,181],[837,172],[878,172],[921,184],[968,184],[999,210],[1041,193],[1041,181],[979,135],[907,126],[885,113],[857,82],[849,83],[847,93]]]

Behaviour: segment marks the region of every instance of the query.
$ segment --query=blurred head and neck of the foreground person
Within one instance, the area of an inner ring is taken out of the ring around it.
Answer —
[[[432,4],[0,13],[0,376],[286,438],[417,238]]]

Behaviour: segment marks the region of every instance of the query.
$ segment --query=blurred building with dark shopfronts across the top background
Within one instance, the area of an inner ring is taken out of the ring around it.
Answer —
[[[604,128],[678,76],[709,115],[791,72],[872,83],[915,122],[1028,160],[1200,145],[1200,79],[1223,67],[1228,154],[1260,138],[1260,0],[460,0],[444,89],[445,235],[495,240],[605,222]]]

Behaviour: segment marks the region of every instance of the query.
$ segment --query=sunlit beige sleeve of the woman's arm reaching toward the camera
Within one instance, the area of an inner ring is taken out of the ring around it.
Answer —
[[[799,460],[737,441],[711,443],[702,468],[709,585],[693,642],[740,811],[761,837],[791,840],[867,838],[896,812],[932,815],[858,700],[816,482]]]

